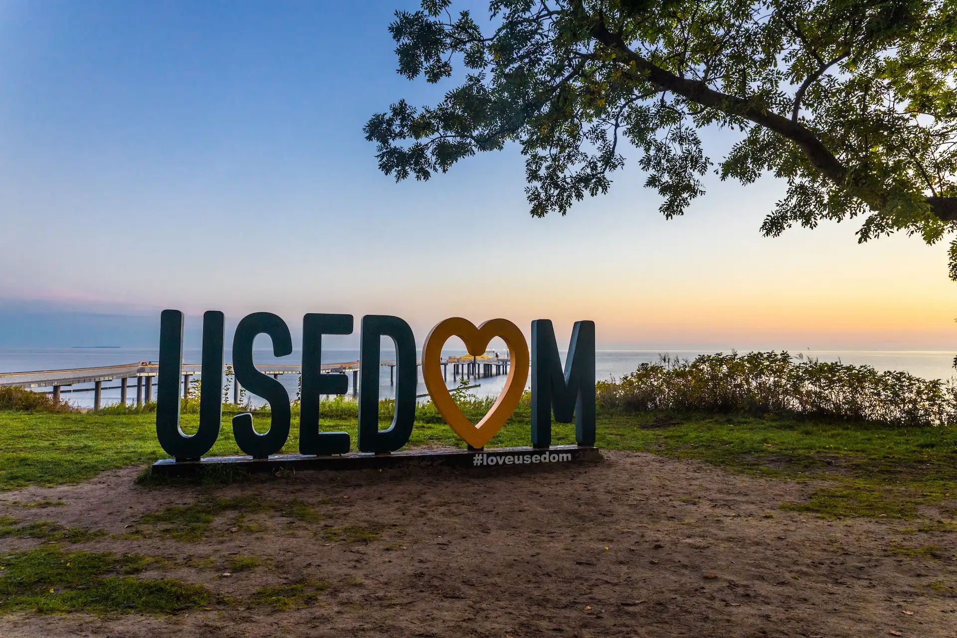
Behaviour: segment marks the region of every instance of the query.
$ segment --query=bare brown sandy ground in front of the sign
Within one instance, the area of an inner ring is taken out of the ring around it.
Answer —
[[[605,459],[485,471],[300,473],[206,490],[139,487],[130,468],[77,486],[7,493],[0,514],[121,536],[145,512],[209,495],[299,498],[318,521],[272,512],[246,517],[261,531],[231,532],[233,513],[218,517],[201,541],[160,535],[72,547],[166,557],[167,568],[143,577],[205,583],[237,598],[303,579],[331,586],[283,611],[234,603],[174,616],[16,613],[0,619],[0,634],[957,635],[954,590],[931,586],[957,584],[957,534],[901,533],[920,521],[828,521],[777,509],[805,499],[813,484],[641,453],[605,452]],[[12,506],[40,498],[66,505]],[[323,533],[347,525],[382,531],[359,542],[330,542]],[[35,542],[0,539],[0,547]],[[937,545],[936,558],[895,551],[925,545]],[[222,576],[236,552],[264,562]],[[204,557],[211,564],[186,565]]]

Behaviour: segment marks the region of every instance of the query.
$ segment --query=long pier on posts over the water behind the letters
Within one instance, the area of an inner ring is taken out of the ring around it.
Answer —
[[[395,362],[382,360],[380,365],[389,367],[389,384],[395,383]],[[416,362],[416,366],[422,363]],[[509,359],[507,357],[449,357],[442,361],[442,372],[446,381],[449,378],[449,366],[452,366],[453,379],[476,379],[479,377],[493,377],[507,374]],[[231,365],[224,365],[224,369],[231,369]],[[100,409],[103,390],[120,390],[120,402],[127,403],[127,393],[130,391],[130,382],[136,384],[136,406],[153,400],[153,387],[156,376],[159,374],[159,363],[138,362],[122,363],[119,365],[104,365],[101,367],[73,368],[67,370],[35,370],[31,372],[4,372],[0,373],[0,387],[19,386],[26,388],[50,387],[48,393],[53,394],[58,401],[61,394],[68,392],[93,392],[93,408]],[[302,366],[294,364],[263,363],[256,365],[256,369],[263,374],[272,375],[278,379],[280,374],[301,374]],[[322,370],[326,374],[348,372],[352,373],[352,393],[355,394],[359,385],[359,361],[344,363],[323,363]],[[189,383],[193,376],[202,375],[202,365],[199,363],[183,364],[183,395],[189,391]],[[104,386],[104,382],[119,381],[120,385]],[[71,388],[72,385],[93,384],[93,387]],[[239,403],[239,384],[233,383],[233,403]],[[70,388],[70,389],[63,389]]]

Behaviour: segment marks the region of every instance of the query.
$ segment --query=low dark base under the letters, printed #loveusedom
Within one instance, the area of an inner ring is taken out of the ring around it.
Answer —
[[[493,448],[489,450],[406,450],[387,454],[349,452],[332,456],[276,454],[268,459],[252,456],[210,456],[198,461],[176,462],[164,458],[153,464],[153,473],[161,476],[192,476],[212,469],[241,470],[247,473],[277,473],[289,470],[377,470],[412,466],[497,469],[508,466],[563,465],[597,461],[597,448],[553,446],[536,448]]]

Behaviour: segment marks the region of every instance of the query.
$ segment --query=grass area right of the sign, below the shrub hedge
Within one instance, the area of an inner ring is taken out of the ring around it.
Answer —
[[[781,509],[821,517],[898,517],[957,499],[957,429],[734,415],[601,419],[597,445],[694,458],[741,473],[832,481]]]

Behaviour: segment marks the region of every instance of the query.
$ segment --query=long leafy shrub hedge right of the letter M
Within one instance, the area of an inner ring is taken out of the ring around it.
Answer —
[[[618,382],[599,383],[597,402],[626,413],[734,411],[895,426],[957,423],[957,386],[951,382],[787,352],[720,353],[694,361],[662,356]]]

